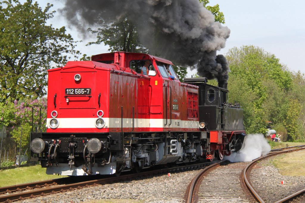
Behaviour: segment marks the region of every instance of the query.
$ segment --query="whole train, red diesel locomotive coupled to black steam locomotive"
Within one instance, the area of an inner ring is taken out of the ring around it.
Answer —
[[[181,82],[172,62],[114,52],[48,70],[47,132],[31,133],[31,156],[47,174],[139,171],[222,159],[245,137],[243,109],[226,84]]]

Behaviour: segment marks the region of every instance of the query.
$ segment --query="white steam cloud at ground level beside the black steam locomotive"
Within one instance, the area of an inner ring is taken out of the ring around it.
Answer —
[[[249,134],[245,137],[245,147],[239,152],[232,152],[224,159],[230,162],[251,162],[253,159],[265,156],[271,151],[271,147],[262,134]]]

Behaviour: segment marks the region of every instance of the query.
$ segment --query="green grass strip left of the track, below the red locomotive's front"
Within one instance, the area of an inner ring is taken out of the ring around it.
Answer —
[[[67,177],[47,175],[45,170],[40,165],[1,170],[0,187]]]

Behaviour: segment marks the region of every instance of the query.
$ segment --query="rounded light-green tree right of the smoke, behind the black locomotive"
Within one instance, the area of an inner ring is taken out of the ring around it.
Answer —
[[[226,58],[231,69],[229,102],[243,106],[247,132],[264,134],[266,121],[285,126],[287,133],[296,132],[285,123],[287,118],[294,123],[289,117],[294,89],[292,73],[279,63],[279,59],[255,46],[232,48]]]

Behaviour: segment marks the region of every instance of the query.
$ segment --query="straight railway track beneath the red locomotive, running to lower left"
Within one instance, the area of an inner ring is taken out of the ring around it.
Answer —
[[[18,200],[24,200],[28,198],[35,198],[39,196],[46,196],[48,194],[56,194],[65,191],[72,191],[76,189],[82,189],[84,187],[96,186],[99,184],[113,183],[122,180],[133,180],[136,177],[151,176],[153,174],[175,172],[180,170],[192,170],[200,169],[212,164],[212,162],[192,164],[188,166],[177,166],[173,168],[157,169],[145,171],[142,173],[126,174],[122,176],[111,176],[106,178],[94,179],[95,176],[85,176],[80,180],[74,177],[46,180],[35,183],[27,183],[21,185],[14,185],[9,187],[0,188],[0,203],[13,202]],[[92,180],[83,181],[85,178],[90,177]]]

